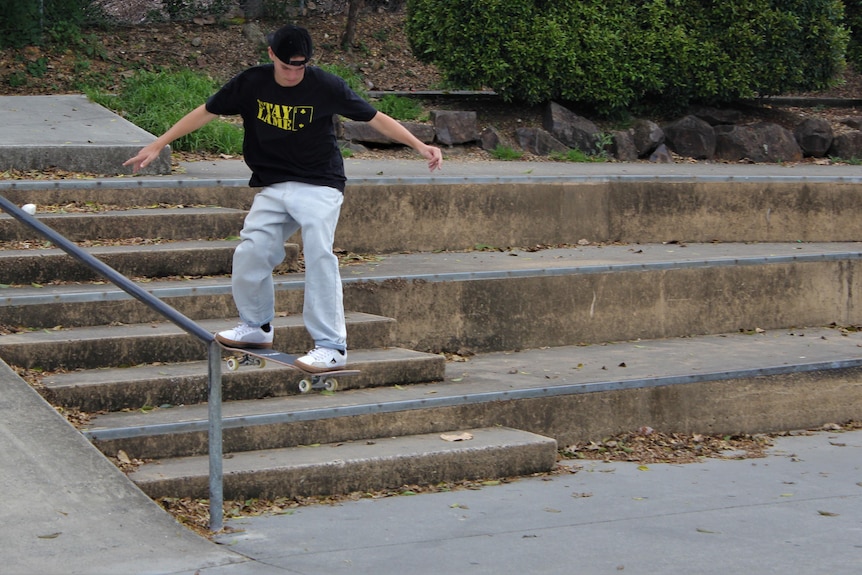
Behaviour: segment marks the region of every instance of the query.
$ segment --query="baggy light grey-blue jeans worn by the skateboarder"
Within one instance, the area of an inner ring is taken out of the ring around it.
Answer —
[[[274,184],[255,195],[233,255],[233,298],[242,321],[261,326],[275,317],[272,270],[284,260],[285,240],[301,229],[305,328],[316,346],[347,349],[341,275],[332,253],[343,201],[335,188],[299,182]]]

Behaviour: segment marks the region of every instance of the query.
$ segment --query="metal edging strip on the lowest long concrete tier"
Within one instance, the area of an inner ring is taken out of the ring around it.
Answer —
[[[669,375],[593,383],[571,383],[566,385],[546,386],[541,388],[492,391],[465,395],[451,395],[448,397],[425,397],[421,399],[407,399],[402,401],[370,403],[346,407],[328,407],[319,409],[308,409],[296,412],[226,417],[222,420],[222,428],[226,430],[249,426],[277,425],[303,421],[335,419],[340,417],[397,413],[404,411],[415,411],[419,409],[461,407],[465,405],[477,405],[482,403],[542,399],[548,397],[579,395],[584,393],[597,393],[604,391],[647,389],[652,387],[669,385],[705,383],[708,381],[727,381],[731,379],[750,379],[777,375],[812,373],[816,371],[859,368],[862,368],[862,359],[847,359],[754,369],[729,370],[713,373]],[[81,433],[90,441],[111,441],[117,439],[131,439],[155,435],[168,435],[172,433],[201,433],[207,431],[207,429],[207,421],[199,420],[129,428],[89,429],[82,430]]]

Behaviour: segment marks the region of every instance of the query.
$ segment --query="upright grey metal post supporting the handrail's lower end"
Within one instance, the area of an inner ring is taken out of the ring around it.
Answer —
[[[215,340],[209,343],[209,488],[210,488],[210,531],[221,531],[224,520],[224,484],[222,469],[222,389],[221,389],[221,347]]]

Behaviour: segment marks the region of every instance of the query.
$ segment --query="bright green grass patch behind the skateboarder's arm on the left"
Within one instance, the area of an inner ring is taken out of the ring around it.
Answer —
[[[191,71],[138,72],[123,82],[119,95],[91,93],[95,102],[123,115],[151,134],[160,135],[177,120],[203,104],[219,85],[211,78]],[[223,154],[242,152],[242,130],[222,120],[178,138],[178,151],[213,151]]]

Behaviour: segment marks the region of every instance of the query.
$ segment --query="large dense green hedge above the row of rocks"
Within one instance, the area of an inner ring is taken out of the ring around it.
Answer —
[[[609,114],[829,87],[842,18],[840,0],[408,0],[407,33],[447,82]]]

